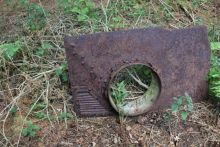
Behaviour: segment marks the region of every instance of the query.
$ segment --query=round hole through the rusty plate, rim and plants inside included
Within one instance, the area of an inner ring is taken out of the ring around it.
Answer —
[[[160,78],[149,66],[131,64],[114,72],[108,85],[113,108],[126,116],[147,112],[159,97]]]

